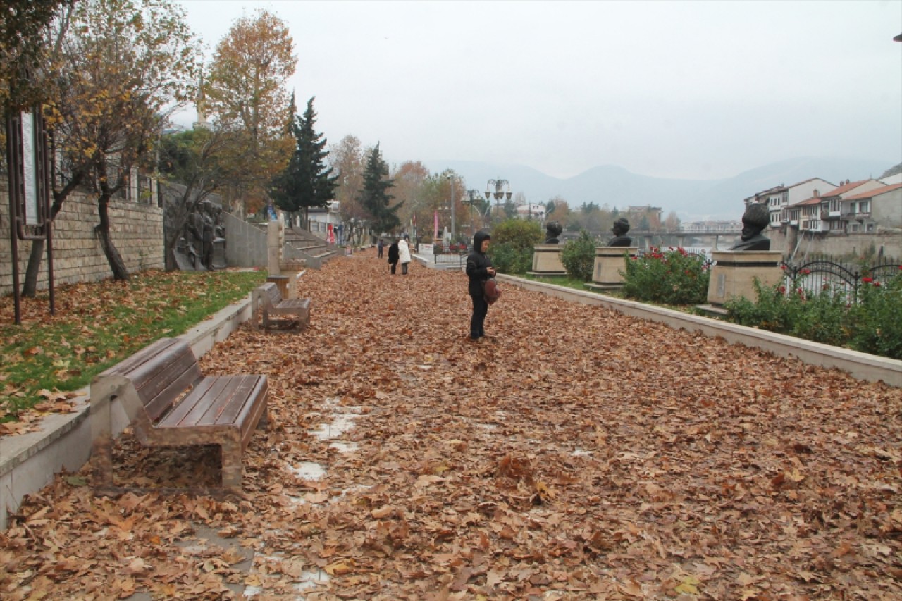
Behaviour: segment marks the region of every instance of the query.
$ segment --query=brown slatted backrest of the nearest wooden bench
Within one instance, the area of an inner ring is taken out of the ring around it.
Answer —
[[[158,421],[191,384],[203,377],[194,352],[181,338],[161,338],[104,374],[131,380],[151,423]]]

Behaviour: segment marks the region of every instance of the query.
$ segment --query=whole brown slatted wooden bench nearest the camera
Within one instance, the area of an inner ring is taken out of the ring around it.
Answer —
[[[91,382],[92,468],[97,492],[123,492],[113,478],[113,423],[133,425],[144,446],[219,445],[222,488],[241,492],[241,457],[266,422],[265,375],[203,375],[188,343],[161,338]],[[124,409],[114,413],[116,404]],[[166,489],[163,489],[166,490]]]

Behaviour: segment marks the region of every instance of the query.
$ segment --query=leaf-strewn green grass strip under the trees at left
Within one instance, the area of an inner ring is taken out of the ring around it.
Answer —
[[[32,408],[41,391],[73,391],[94,375],[161,337],[185,333],[246,297],[266,272],[143,272],[60,287],[56,315],[46,293],[23,299],[23,325],[12,319],[13,298],[0,300],[0,421]]]

